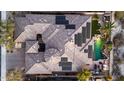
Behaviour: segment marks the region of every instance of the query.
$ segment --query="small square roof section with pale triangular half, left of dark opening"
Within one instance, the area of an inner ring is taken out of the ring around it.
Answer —
[[[28,40],[26,41],[26,53],[38,53],[38,41],[35,40]]]

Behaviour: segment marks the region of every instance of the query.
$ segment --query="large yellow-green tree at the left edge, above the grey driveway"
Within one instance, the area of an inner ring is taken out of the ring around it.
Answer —
[[[14,47],[13,33],[14,22],[10,18],[7,21],[0,22],[0,44],[5,44],[7,50]]]

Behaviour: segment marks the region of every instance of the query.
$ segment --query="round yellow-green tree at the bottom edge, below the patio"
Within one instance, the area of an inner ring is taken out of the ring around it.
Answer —
[[[84,69],[82,72],[78,73],[77,78],[80,81],[89,80],[91,77],[91,72],[88,69]]]

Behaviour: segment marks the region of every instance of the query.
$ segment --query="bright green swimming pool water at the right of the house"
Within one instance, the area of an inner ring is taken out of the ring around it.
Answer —
[[[103,44],[104,44],[104,42],[101,38],[98,38],[94,42],[94,58],[95,58],[95,61],[103,58],[103,54],[102,54]]]

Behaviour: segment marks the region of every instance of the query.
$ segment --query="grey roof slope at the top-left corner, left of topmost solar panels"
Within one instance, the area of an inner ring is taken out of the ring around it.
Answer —
[[[15,17],[15,34],[14,38],[16,39],[27,25],[33,25],[34,23],[55,23],[54,15],[32,15],[27,14],[26,17]]]

